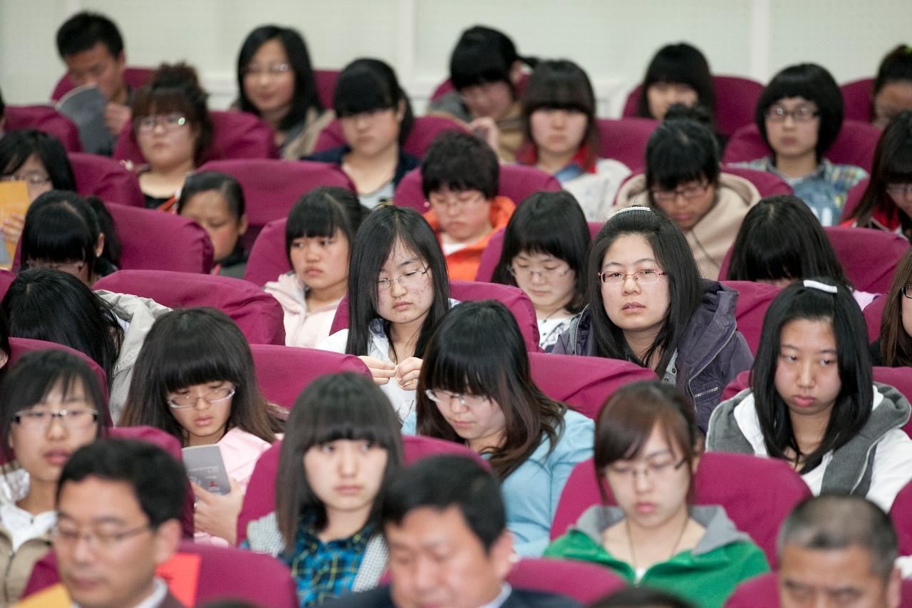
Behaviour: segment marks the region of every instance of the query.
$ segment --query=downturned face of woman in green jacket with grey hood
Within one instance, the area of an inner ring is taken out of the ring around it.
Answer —
[[[687,509],[690,466],[696,470],[698,463],[688,463],[657,424],[637,457],[611,463],[604,475],[630,523],[656,529]]]

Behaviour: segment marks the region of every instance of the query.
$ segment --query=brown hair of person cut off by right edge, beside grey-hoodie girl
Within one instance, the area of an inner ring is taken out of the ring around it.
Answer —
[[[871,362],[887,367],[912,367],[912,249],[896,264],[886,305],[880,318],[880,337],[871,344]]]

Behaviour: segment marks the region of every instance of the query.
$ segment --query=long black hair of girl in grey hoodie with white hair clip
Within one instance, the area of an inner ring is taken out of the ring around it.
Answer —
[[[834,283],[826,278],[817,279]],[[804,456],[800,473],[813,471],[831,450],[837,450],[855,437],[871,416],[874,379],[868,354],[867,330],[861,309],[845,286],[834,283],[836,293],[793,283],[772,300],[763,317],[763,330],[757,357],[751,371],[751,391],[770,456],[785,458],[788,449]],[[793,320],[821,320],[831,323],[836,338],[839,394],[830,414],[820,446],[803,454],[795,439],[789,409],[776,391],[776,369],[779,365],[782,328]]]

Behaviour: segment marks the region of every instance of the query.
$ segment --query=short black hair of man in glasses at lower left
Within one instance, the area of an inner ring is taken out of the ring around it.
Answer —
[[[152,529],[181,519],[190,488],[181,463],[159,446],[132,439],[99,439],[74,452],[57,481],[57,506],[67,482],[88,477],[129,484]]]

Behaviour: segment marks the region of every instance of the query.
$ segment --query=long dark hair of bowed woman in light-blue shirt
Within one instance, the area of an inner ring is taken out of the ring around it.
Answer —
[[[431,336],[421,365],[419,434],[465,443],[426,389],[487,397],[501,408],[503,445],[490,450],[488,462],[502,481],[532,456],[543,435],[554,449],[563,433],[566,406],[534,383],[519,325],[496,300],[451,309]]]

